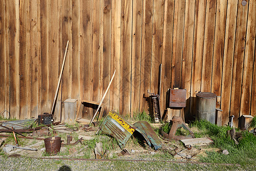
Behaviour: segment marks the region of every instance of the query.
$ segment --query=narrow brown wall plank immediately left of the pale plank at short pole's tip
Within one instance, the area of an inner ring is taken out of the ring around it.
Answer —
[[[104,0],[103,2],[103,92],[108,87],[110,82],[110,62],[111,62],[111,0]],[[109,110],[109,91],[105,96],[104,113]]]

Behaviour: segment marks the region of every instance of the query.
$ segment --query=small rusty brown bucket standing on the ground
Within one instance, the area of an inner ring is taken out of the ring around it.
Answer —
[[[44,139],[44,144],[46,146],[46,152],[50,154],[56,154],[60,151],[60,145],[62,141],[60,137],[49,137]]]

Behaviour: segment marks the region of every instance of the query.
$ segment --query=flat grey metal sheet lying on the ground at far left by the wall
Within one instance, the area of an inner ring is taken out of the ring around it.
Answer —
[[[13,120],[2,123],[1,125],[14,129],[29,129],[36,119]],[[3,129],[3,128],[2,128]]]

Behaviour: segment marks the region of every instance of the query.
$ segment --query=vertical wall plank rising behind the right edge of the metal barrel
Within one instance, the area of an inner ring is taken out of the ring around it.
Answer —
[[[211,92],[215,93],[217,96],[221,96],[221,78],[226,30],[226,9],[227,0],[217,0],[211,88]],[[220,103],[216,103],[216,108],[220,108]],[[218,123],[222,123],[222,115],[218,116]]]

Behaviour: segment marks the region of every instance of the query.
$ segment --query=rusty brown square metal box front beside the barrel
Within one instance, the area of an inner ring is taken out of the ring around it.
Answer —
[[[186,107],[186,89],[170,89],[169,107]]]

